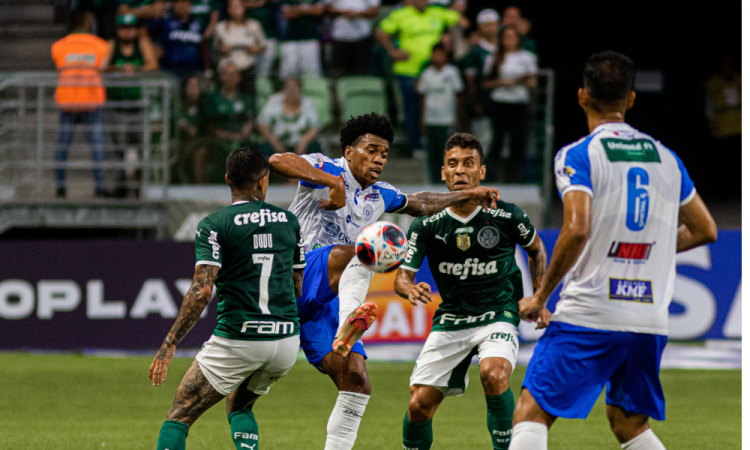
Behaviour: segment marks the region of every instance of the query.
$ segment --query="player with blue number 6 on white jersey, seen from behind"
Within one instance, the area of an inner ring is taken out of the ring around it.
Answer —
[[[659,364],[675,256],[716,241],[716,224],[680,158],[625,123],[632,88],[626,56],[586,61],[578,103],[591,134],[555,157],[562,230],[541,287],[520,302],[521,317],[534,320],[567,277],[526,369],[511,450],[546,450],[555,419],[585,419],[605,385],[621,447],[665,448],[649,417],[665,419]]]

